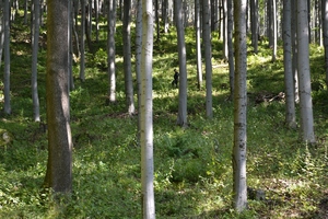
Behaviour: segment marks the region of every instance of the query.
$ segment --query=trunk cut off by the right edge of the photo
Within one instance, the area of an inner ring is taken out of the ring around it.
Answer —
[[[325,47],[325,70],[326,70],[326,85],[328,89],[328,0],[321,0],[323,9],[323,38]]]

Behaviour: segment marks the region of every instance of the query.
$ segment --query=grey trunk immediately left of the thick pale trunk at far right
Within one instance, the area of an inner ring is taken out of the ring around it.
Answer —
[[[291,0],[283,1],[283,66],[284,66],[284,92],[285,92],[285,124],[290,128],[296,128],[294,78],[292,62],[292,31],[291,31]]]

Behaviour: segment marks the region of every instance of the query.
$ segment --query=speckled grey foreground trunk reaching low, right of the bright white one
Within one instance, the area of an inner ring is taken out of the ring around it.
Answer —
[[[235,92],[234,92],[234,146],[233,146],[233,194],[234,208],[243,211],[247,206],[246,184],[246,4],[247,0],[234,0],[235,23]]]

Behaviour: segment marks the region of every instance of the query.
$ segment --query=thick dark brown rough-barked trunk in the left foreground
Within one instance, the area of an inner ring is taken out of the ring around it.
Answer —
[[[45,186],[56,193],[72,189],[72,137],[68,85],[69,1],[47,1],[48,164]]]

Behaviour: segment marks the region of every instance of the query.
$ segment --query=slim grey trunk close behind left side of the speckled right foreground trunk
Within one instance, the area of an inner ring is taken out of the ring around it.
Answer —
[[[233,45],[233,0],[226,0],[226,15],[227,15],[227,51],[229,51],[229,83],[230,83],[230,96],[233,99],[234,96],[234,74],[235,74],[235,64],[234,64],[234,45]]]

